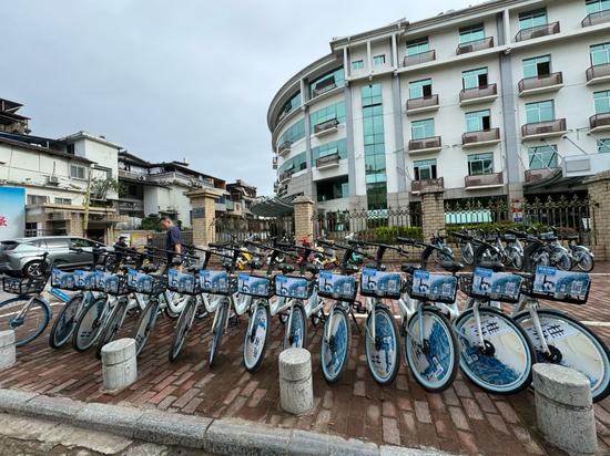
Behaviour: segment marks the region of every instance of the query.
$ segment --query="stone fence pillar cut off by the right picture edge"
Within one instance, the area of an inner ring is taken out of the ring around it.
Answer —
[[[610,259],[608,245],[610,243],[610,170],[598,173],[584,180],[591,200],[590,218],[594,245],[591,246],[598,260]]]

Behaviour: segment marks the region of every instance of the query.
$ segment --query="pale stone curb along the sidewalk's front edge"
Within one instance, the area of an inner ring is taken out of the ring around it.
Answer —
[[[345,439],[311,431],[284,429],[245,421],[182,415],[136,407],[85,403],[0,388],[0,412],[71,424],[160,445],[230,455],[449,455],[436,449],[403,448]]]

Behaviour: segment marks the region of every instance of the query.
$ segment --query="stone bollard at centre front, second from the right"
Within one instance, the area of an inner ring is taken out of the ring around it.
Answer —
[[[305,349],[279,353],[279,402],[284,411],[303,415],[314,406],[312,355]]]

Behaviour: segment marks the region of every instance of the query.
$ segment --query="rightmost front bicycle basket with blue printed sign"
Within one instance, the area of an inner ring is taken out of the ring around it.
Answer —
[[[552,301],[584,304],[591,289],[591,277],[584,272],[560,271],[549,266],[536,268],[528,294]]]

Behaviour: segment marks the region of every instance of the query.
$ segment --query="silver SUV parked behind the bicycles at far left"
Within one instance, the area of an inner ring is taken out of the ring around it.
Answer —
[[[0,242],[0,273],[8,276],[40,276],[39,257],[49,252],[48,261],[53,260],[54,266],[62,269],[71,269],[91,265],[92,253],[77,252],[70,248],[82,248],[91,251],[93,247],[104,247],[94,240],[70,236],[44,236],[37,238],[20,238],[3,240]]]

